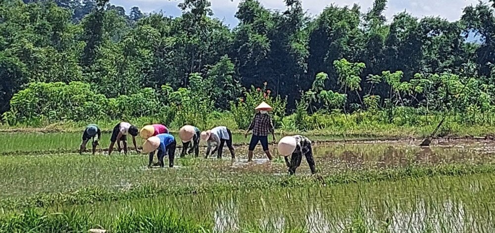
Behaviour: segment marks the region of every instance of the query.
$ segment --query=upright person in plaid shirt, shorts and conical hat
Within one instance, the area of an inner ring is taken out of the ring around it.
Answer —
[[[249,149],[247,152],[247,161],[252,161],[252,154],[258,142],[261,142],[263,151],[268,159],[272,160],[272,155],[268,149],[268,134],[272,134],[273,143],[275,143],[276,139],[273,131],[274,127],[272,118],[268,115],[268,111],[271,111],[273,108],[267,103],[262,102],[255,109],[258,112],[254,115],[254,118],[252,119],[251,124],[249,125],[249,128],[247,128],[246,134],[244,135],[244,137],[247,137],[249,131],[252,130],[251,141],[249,142]]]

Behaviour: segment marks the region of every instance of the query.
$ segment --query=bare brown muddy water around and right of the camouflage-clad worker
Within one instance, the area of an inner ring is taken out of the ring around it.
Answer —
[[[417,140],[403,141],[370,141],[348,143],[315,143],[313,146],[316,166],[323,174],[335,170],[362,170],[371,168],[397,168],[408,165],[437,164],[478,164],[495,161],[495,141],[491,140],[452,140],[436,141],[433,146],[420,147]],[[237,149],[237,154],[245,156],[246,148]],[[234,172],[266,172],[285,171],[283,158],[276,155],[274,163],[269,163],[263,152],[255,151],[256,160],[247,163],[239,159],[225,171]],[[309,168],[305,159],[298,169],[307,173]]]

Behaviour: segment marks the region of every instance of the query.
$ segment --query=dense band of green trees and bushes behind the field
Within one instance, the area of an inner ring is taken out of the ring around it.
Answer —
[[[476,123],[494,110],[493,0],[456,22],[401,12],[390,23],[387,0],[365,13],[329,5],[316,17],[301,0],[285,2],[274,11],[242,0],[229,29],[208,0],[180,3],[176,18],[137,7],[126,15],[108,0],[3,0],[3,121],[156,116],[204,126],[231,110],[246,128],[262,99],[278,127],[297,129],[336,112],[393,122],[400,111],[455,111]]]

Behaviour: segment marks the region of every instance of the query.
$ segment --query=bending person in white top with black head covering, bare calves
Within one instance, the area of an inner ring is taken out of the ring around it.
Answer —
[[[138,146],[136,144],[136,136],[138,136],[139,130],[136,126],[133,126],[127,122],[120,122],[114,128],[112,136],[110,137],[110,147],[108,148],[108,155],[113,151],[113,145],[117,142],[117,149],[120,151],[120,141],[124,147],[124,153],[127,154],[127,135],[132,136],[132,143],[136,152],[139,153]]]

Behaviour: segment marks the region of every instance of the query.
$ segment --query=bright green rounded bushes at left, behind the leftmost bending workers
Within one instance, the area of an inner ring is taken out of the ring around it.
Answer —
[[[151,88],[131,95],[106,98],[82,82],[29,83],[14,94],[10,111],[3,114],[9,125],[98,119],[131,119],[156,114],[157,94]]]

